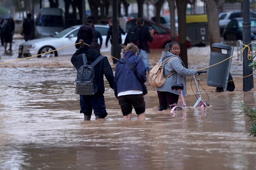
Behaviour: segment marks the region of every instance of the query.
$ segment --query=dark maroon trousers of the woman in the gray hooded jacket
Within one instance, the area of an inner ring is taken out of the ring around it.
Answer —
[[[159,99],[159,107],[163,107],[164,109],[167,109],[167,106],[177,103],[179,100],[179,95],[167,91],[157,91],[157,96]]]

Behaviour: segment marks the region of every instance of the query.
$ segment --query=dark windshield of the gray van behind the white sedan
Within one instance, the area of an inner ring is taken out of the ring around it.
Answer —
[[[62,16],[57,15],[40,15],[36,20],[38,26],[63,27]]]

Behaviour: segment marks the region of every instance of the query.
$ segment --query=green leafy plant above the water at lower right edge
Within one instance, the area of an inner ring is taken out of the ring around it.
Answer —
[[[249,117],[249,121],[251,122],[252,126],[251,126],[251,130],[250,130],[250,135],[249,136],[253,136],[256,137],[256,107],[254,109],[249,108],[247,106],[244,105],[244,103],[242,103],[242,108],[243,108],[243,112],[246,114],[246,116]]]

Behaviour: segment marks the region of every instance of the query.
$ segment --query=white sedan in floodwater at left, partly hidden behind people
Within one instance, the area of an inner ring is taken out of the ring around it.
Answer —
[[[77,39],[77,32],[78,32],[80,26],[81,25],[69,27],[69,28],[59,32],[57,35],[55,35],[53,37],[46,37],[46,38],[33,39],[30,41],[26,41],[20,45],[18,57],[30,57],[33,55],[52,51],[52,50],[55,50],[55,49],[58,49],[58,48],[61,48],[64,46],[69,46],[69,45],[75,44],[76,39]],[[110,41],[108,41],[108,48],[105,47],[108,26],[107,25],[94,25],[94,28],[96,30],[98,30],[102,35],[103,44],[101,46],[100,51],[109,54],[111,51]],[[124,43],[125,36],[126,35],[122,35],[123,43]],[[58,51],[43,54],[39,57],[53,57],[53,56],[62,56],[62,55],[72,56],[75,52],[76,52],[76,47],[70,46],[70,47],[63,48]]]

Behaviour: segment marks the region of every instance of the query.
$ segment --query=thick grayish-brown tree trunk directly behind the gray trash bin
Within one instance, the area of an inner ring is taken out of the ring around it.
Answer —
[[[212,52],[220,52],[218,48],[212,47],[213,43],[220,42],[219,8],[224,0],[205,0],[206,14],[208,20],[209,40]]]

